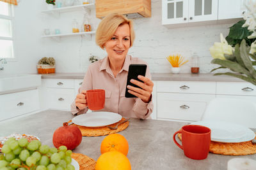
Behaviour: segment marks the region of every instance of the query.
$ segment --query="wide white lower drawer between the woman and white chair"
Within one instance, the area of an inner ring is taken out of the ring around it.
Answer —
[[[201,120],[207,103],[215,94],[178,94],[157,92],[157,118],[169,120]]]

